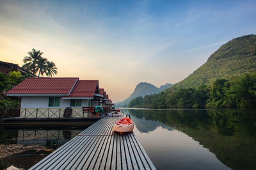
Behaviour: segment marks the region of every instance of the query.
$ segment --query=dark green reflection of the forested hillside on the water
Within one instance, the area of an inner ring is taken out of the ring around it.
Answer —
[[[188,134],[232,169],[256,169],[255,110],[129,110],[129,113],[134,120],[144,119],[144,126],[155,122],[157,127],[158,121]]]

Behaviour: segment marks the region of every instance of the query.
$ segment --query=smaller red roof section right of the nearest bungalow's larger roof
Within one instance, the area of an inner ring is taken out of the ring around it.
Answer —
[[[99,80],[79,80],[67,97],[93,97]]]

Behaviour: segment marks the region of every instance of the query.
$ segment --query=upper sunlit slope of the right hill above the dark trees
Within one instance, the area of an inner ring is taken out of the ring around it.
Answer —
[[[204,65],[174,85],[175,89],[197,87],[216,79],[229,79],[256,70],[256,35],[242,36],[228,41],[212,53]]]

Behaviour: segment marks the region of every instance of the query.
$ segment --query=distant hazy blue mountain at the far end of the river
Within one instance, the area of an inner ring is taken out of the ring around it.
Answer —
[[[125,99],[122,102],[115,103],[116,107],[126,107],[127,104],[134,99],[135,97],[139,96],[146,96],[150,94],[157,94],[161,92],[162,90],[168,89],[169,87],[172,87],[172,84],[166,83],[165,85],[161,85],[160,88],[157,88],[156,86],[147,83],[147,82],[141,82],[136,85],[134,91],[132,92],[131,96],[129,96],[127,99]]]

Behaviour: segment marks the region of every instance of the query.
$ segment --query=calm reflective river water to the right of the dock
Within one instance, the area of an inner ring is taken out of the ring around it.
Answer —
[[[256,110],[124,110],[157,169],[256,169]]]

